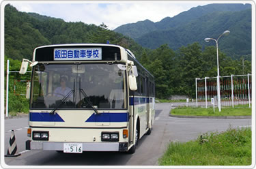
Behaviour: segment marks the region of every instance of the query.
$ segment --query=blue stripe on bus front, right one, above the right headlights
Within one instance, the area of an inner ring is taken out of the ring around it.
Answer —
[[[91,117],[85,122],[127,122],[128,112],[108,112],[100,114],[91,114]]]

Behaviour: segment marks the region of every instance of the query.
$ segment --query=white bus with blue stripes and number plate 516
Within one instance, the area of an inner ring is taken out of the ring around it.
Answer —
[[[155,119],[155,83],[130,50],[112,44],[40,46],[32,67],[27,150],[134,153]]]

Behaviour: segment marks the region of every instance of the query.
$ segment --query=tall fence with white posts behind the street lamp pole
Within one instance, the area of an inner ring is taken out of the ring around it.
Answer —
[[[217,78],[196,78],[196,104],[197,106],[217,105]],[[221,106],[248,104],[251,107],[251,74],[231,75],[220,77]]]

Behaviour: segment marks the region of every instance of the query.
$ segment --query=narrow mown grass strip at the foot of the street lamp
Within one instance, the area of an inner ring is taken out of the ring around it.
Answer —
[[[218,108],[194,108],[194,107],[177,107],[170,112],[173,115],[182,116],[251,116],[252,110],[248,107],[222,108],[221,112]]]

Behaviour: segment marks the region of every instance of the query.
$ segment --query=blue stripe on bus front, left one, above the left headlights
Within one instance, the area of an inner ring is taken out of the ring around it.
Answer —
[[[59,114],[50,114],[48,112],[30,112],[29,121],[52,121],[64,122]]]

